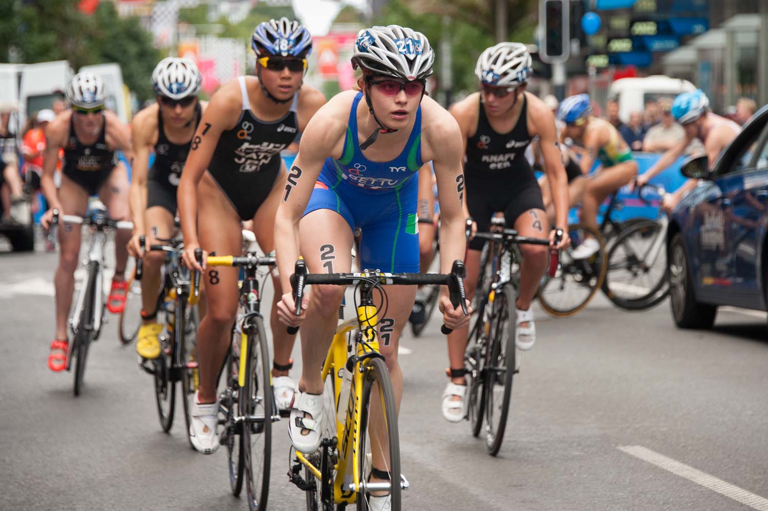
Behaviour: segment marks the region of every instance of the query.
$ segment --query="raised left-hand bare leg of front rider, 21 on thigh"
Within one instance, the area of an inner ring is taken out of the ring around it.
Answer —
[[[344,273],[352,267],[354,237],[344,218],[327,209],[307,214],[300,221],[300,248],[310,273]],[[320,367],[326,358],[344,297],[343,286],[313,286],[310,307],[301,327],[302,392],[323,393]]]

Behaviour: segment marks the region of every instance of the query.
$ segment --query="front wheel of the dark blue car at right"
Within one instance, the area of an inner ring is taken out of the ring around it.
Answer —
[[[683,234],[675,234],[667,257],[670,276],[672,317],[680,328],[711,328],[717,306],[701,304],[694,296],[694,279],[690,271]]]

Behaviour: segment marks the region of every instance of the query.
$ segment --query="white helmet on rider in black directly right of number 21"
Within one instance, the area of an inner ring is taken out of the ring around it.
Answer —
[[[500,42],[478,58],[475,75],[481,83],[515,88],[533,72],[528,47],[519,42]]]

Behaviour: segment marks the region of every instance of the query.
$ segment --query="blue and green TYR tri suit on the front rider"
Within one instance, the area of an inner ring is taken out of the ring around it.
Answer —
[[[304,214],[319,209],[336,211],[349,228],[362,231],[359,264],[366,270],[419,271],[419,195],[417,172],[422,161],[422,108],[416,111],[413,129],[397,158],[370,161],[357,138],[359,92],[349,112],[344,153],[326,158]]]

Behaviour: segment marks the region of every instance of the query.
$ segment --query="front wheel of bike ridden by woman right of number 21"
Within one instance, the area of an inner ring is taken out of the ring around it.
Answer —
[[[495,293],[488,354],[485,357],[485,446],[492,456],[502,448],[515,373],[515,290]]]

